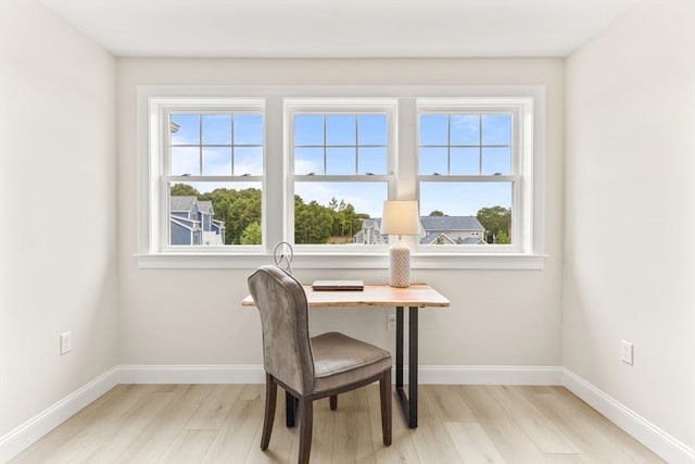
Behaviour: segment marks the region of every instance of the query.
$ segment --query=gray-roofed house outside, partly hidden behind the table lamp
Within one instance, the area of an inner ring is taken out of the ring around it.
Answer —
[[[485,243],[485,228],[476,216],[420,216],[418,237],[422,244],[478,244]],[[364,220],[353,242],[388,243],[389,237],[381,234],[381,218]]]

